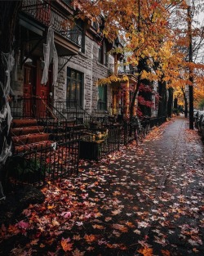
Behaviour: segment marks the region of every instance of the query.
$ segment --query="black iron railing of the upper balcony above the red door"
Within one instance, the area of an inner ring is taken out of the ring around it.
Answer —
[[[77,25],[73,27],[67,16],[49,1],[25,0],[22,2],[22,11],[43,25],[51,26],[56,33],[82,47],[82,29]]]

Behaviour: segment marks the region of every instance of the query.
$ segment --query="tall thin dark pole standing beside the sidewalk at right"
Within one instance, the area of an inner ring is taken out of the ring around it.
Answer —
[[[188,62],[193,62],[193,49],[192,49],[192,11],[191,0],[185,0],[188,6]],[[189,129],[193,130],[193,70],[189,66],[189,82],[188,97],[189,97]]]

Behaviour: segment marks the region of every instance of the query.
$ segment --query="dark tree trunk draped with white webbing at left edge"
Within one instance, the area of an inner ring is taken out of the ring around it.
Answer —
[[[3,169],[7,158],[11,156],[10,77],[16,20],[20,6],[21,1],[0,1],[0,200],[4,198],[2,192]]]

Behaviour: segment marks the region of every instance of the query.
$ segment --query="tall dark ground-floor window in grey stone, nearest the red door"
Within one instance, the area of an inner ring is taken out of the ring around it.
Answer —
[[[78,70],[67,69],[67,103],[82,106],[83,74]],[[69,105],[70,106],[70,105]]]

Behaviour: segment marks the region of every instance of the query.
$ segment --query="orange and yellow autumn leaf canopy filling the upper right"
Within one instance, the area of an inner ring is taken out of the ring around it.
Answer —
[[[203,1],[193,1],[191,7],[193,62],[188,61],[189,17],[184,0],[95,0],[75,1],[74,4],[80,10],[78,16],[88,16],[98,22],[109,41],[119,37],[126,42],[122,51],[129,53],[126,64],[135,65],[138,83],[141,79],[160,81],[167,88],[179,90],[193,85],[188,76],[190,69],[194,86],[202,88],[204,34],[202,20],[197,17],[201,17]],[[144,60],[148,70],[139,69],[140,61]],[[111,83],[113,79],[117,80],[110,77],[104,83]]]

